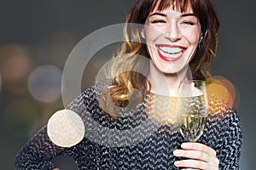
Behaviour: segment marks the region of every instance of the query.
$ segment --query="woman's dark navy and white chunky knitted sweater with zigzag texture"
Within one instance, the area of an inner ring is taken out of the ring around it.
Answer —
[[[73,157],[79,169],[178,169],[173,150],[185,142],[175,123],[159,123],[148,118],[148,94],[135,109],[120,108],[113,120],[103,113],[98,99],[102,88],[99,83],[88,88],[67,106],[84,121],[84,139],[69,148],[57,146],[43,127],[16,156],[17,169],[53,169],[55,156]],[[166,105],[160,102],[159,109]],[[149,111],[150,112],[150,111]],[[150,115],[150,114],[149,114]],[[208,117],[207,127],[199,143],[216,150],[219,169],[239,169],[241,155],[241,127],[237,111],[227,110]]]

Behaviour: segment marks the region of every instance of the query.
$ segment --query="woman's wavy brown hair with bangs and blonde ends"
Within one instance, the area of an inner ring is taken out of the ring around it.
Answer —
[[[137,0],[126,19],[125,42],[113,61],[111,71],[113,85],[108,88],[114,105],[127,105],[134,89],[137,89],[143,97],[147,94],[150,85],[147,81],[150,56],[141,31],[148,14],[154,8],[162,11],[170,6],[185,12],[189,5],[201,23],[203,35],[201,45],[197,48],[189,67],[195,79],[205,79],[209,76],[210,63],[217,48],[219,27],[218,17],[210,0]]]

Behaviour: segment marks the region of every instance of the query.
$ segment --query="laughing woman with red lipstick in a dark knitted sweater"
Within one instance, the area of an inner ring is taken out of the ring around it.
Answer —
[[[53,169],[51,160],[67,155],[80,169],[239,169],[236,111],[212,113],[198,143],[185,143],[172,107],[181,80],[210,77],[218,25],[209,0],[137,0],[111,79],[88,88],[67,106],[88,127],[84,139],[60,147],[44,127],[20,150],[16,167]],[[173,111],[168,116],[166,108]]]

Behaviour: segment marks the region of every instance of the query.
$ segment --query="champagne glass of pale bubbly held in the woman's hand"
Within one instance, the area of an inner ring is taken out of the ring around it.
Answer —
[[[180,82],[177,98],[177,123],[183,138],[196,142],[206,127],[207,111],[206,82],[185,80]]]

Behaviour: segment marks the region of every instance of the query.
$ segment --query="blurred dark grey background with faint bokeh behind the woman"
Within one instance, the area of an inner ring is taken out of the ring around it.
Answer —
[[[0,165],[15,169],[16,153],[63,108],[61,74],[76,44],[104,26],[124,23],[134,0],[2,0],[0,5]],[[241,170],[253,169],[256,146],[253,113],[256,83],[256,20],[253,0],[212,0],[221,23],[212,75],[230,80],[239,94],[243,145]],[[102,49],[84,69],[83,88],[94,83],[96,70],[110,59]],[[75,68],[74,68],[75,69]],[[253,102],[254,101],[254,102]],[[61,169],[77,169],[59,157]]]

